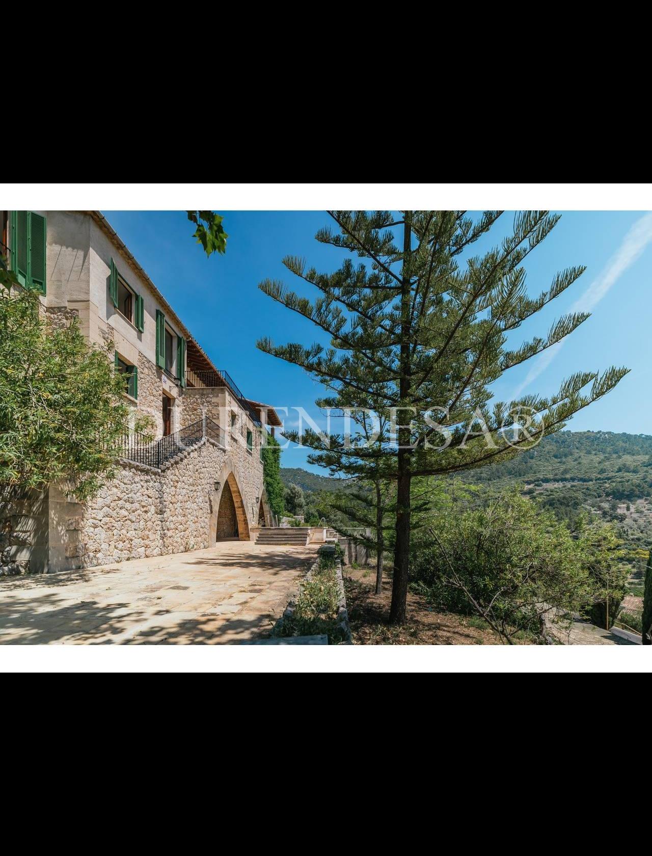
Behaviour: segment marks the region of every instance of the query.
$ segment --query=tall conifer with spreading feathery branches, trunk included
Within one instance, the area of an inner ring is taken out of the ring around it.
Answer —
[[[348,391],[364,398],[370,394],[369,378],[387,390],[382,409],[397,416],[397,442],[358,449],[356,455],[360,475],[381,467],[383,478],[395,484],[394,623],[406,613],[412,479],[483,466],[531,448],[560,431],[573,413],[613,389],[627,372],[610,368],[600,377],[577,372],[549,399],[525,395],[489,408],[489,385],[503,372],[560,342],[589,317],[586,312],[563,316],[547,336],[507,347],[508,335],[562,294],[584,268],[562,271],[550,288],[530,297],[523,262],[559,216],[520,212],[512,234],[498,247],[481,256],[466,253],[501,213],[485,211],[473,218],[465,211],[403,211],[395,220],[388,211],[329,211],[338,229],[321,229],[317,241],[364,261],[354,265],[346,259],[335,273],[321,274],[304,259],[283,259],[288,270],[321,292],[314,301],[279,281],[259,285],[326,331],[331,347],[276,346],[263,338],[258,348],[303,367],[338,395]],[[394,244],[394,227],[400,229],[400,247]],[[506,427],[519,425],[524,414],[527,433],[518,431],[510,439]],[[475,424],[482,431],[473,431]],[[436,435],[440,449],[433,448]],[[315,443],[318,452],[328,448],[314,437],[304,443]]]

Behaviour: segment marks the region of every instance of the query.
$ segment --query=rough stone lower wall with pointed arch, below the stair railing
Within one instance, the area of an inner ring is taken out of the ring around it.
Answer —
[[[116,478],[86,503],[74,502],[66,484],[51,484],[43,495],[3,505],[2,574],[92,568],[212,546],[227,483],[239,537],[249,539],[258,526],[263,465],[240,445],[224,449],[204,438],[162,470],[121,461]]]

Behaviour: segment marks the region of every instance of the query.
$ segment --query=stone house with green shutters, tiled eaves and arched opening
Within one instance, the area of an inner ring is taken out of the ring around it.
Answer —
[[[274,410],[213,365],[100,212],[0,218],[0,249],[44,314],[52,324],[77,317],[88,342],[112,343],[129,405],[156,425],[154,442],[125,442],[116,479],[91,501],[75,502],[65,484],[15,498],[2,564],[88,568],[248,540],[269,526],[261,446],[281,425]]]

